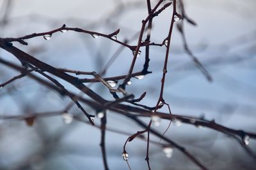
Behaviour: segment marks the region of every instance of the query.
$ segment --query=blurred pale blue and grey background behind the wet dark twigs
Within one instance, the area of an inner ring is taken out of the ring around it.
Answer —
[[[10,0],[9,0],[10,1]],[[147,17],[146,1],[0,1],[0,36],[20,37],[33,32],[45,32],[63,24],[109,34],[120,28],[118,39],[131,39],[140,31],[141,20]],[[156,4],[157,1],[152,1]],[[214,119],[234,129],[255,132],[256,109],[256,1],[193,0],[184,1],[186,13],[197,26],[186,24],[188,45],[211,73],[209,82],[184,52],[182,39],[174,28],[164,100],[173,113]],[[161,43],[168,34],[172,8],[154,20],[152,41]],[[131,39],[136,45],[138,36]],[[38,37],[28,40],[28,46],[15,46],[56,67],[81,71],[102,71],[120,45],[105,38],[94,39],[88,34],[67,31],[56,33],[49,41]],[[127,91],[139,97],[147,91],[141,103],[156,104],[161,85],[165,47],[150,48],[150,68],[142,80],[132,79]],[[3,59],[19,62],[0,50]],[[134,68],[143,67],[145,51]],[[125,49],[108,68],[107,76],[127,73],[132,53]],[[0,66],[0,83],[16,76],[16,71]],[[83,78],[88,76],[81,76]],[[72,92],[74,87],[61,81]],[[95,83],[90,85],[106,99],[113,99],[108,90]],[[0,169],[104,169],[100,152],[100,131],[92,125],[74,120],[64,124],[61,116],[37,118],[32,127],[24,120],[4,120],[5,116],[44,113],[63,109],[70,99],[48,90],[29,78],[22,78],[0,89]],[[86,106],[85,106],[86,108]],[[86,108],[94,114],[91,108]],[[161,109],[168,113],[167,108]],[[73,107],[70,113],[83,117]],[[148,122],[148,118],[141,120]],[[95,118],[99,124],[99,118]],[[168,121],[162,120],[157,130],[164,132]],[[116,113],[108,113],[107,127],[129,134],[141,127]],[[174,124],[165,134],[186,147],[209,169],[255,169],[250,157],[234,139],[206,128]],[[127,135],[106,132],[109,169],[128,169],[122,159],[122,147]],[[152,136],[152,140],[159,139]],[[127,146],[132,169],[147,169],[146,142],[135,139]],[[256,142],[250,140],[256,152]],[[171,158],[164,157],[161,147],[150,145],[152,169],[198,169],[177,150]]]

